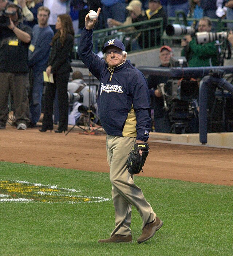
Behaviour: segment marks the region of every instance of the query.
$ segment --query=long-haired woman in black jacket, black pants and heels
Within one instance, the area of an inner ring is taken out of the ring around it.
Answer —
[[[59,126],[56,133],[67,130],[68,96],[67,84],[72,68],[69,55],[74,46],[74,29],[71,17],[67,14],[58,15],[56,22],[58,32],[52,38],[52,52],[48,60],[46,73],[53,74],[54,83],[48,83],[45,92],[44,118],[41,132],[53,129],[53,106],[56,89],[58,90]]]

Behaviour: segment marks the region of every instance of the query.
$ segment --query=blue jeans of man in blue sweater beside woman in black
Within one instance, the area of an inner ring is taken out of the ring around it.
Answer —
[[[31,122],[37,123],[40,119],[41,101],[43,93],[43,71],[32,71],[32,97],[30,100]]]

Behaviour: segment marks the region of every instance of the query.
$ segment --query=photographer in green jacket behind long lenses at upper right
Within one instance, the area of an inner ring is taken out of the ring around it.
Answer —
[[[212,28],[211,20],[208,17],[203,17],[198,23],[198,32],[210,32]],[[183,50],[181,56],[185,56],[189,67],[209,67],[218,66],[218,48],[215,42],[197,44],[196,37],[185,35],[181,40]]]

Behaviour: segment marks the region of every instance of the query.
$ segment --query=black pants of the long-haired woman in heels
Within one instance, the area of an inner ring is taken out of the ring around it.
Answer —
[[[56,89],[58,90],[59,105],[59,126],[58,130],[67,130],[68,125],[68,95],[67,84],[70,73],[54,75],[54,83],[48,83],[45,91],[44,118],[42,128],[46,130],[53,129],[52,113],[54,107],[54,98]]]

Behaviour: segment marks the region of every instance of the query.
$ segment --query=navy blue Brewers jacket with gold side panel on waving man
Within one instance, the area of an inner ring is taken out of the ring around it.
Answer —
[[[83,29],[79,58],[100,81],[98,111],[108,135],[147,141],[151,127],[150,95],[145,76],[129,60],[113,68],[92,52],[92,30]]]

